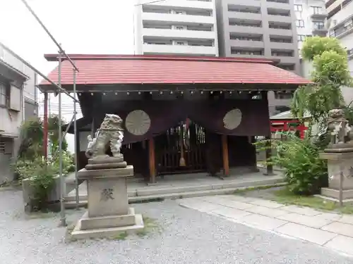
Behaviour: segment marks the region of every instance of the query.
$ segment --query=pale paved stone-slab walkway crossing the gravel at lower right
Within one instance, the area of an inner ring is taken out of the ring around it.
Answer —
[[[187,208],[353,256],[353,215],[325,213],[235,195],[180,199],[178,202]]]

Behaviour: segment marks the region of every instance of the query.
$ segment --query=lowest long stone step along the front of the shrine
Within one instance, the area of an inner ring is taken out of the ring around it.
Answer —
[[[279,187],[284,185],[285,183],[283,182],[277,182],[273,183],[271,185]],[[261,184],[261,185],[252,185],[252,186],[246,186],[246,187],[232,187],[232,188],[222,188],[222,189],[208,189],[208,190],[203,190],[203,191],[181,191],[181,192],[175,192],[175,193],[168,193],[168,194],[151,194],[151,195],[144,195],[144,196],[131,196],[128,197],[128,201],[130,203],[138,203],[138,202],[143,202],[143,201],[155,201],[158,199],[182,199],[182,198],[191,198],[191,197],[201,197],[201,196],[210,196],[210,195],[222,195],[222,194],[233,194],[234,191],[237,191],[239,189],[247,189],[247,188],[253,188],[253,187],[265,187],[268,186],[268,184]],[[85,199],[81,200],[80,197],[80,202],[79,206],[84,207],[87,206],[87,196],[82,197]],[[76,208],[76,201],[66,201],[65,203],[66,208]]]

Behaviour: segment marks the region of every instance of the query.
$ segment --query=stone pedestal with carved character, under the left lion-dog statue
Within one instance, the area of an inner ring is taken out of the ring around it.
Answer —
[[[87,180],[88,211],[71,233],[74,239],[109,238],[143,229],[142,215],[128,207],[126,177],[133,175],[133,166],[100,169],[110,165],[88,165],[90,170],[78,172],[80,180]]]

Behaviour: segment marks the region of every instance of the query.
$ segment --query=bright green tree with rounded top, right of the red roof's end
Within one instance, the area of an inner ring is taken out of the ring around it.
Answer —
[[[351,86],[347,51],[335,38],[309,37],[301,49],[303,59],[313,63],[313,84],[299,87],[294,93],[292,113],[303,118],[309,112],[319,127],[325,125],[328,111],[346,108],[340,87]]]

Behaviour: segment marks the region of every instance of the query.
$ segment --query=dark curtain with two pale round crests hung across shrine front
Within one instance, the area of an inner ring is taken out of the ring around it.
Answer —
[[[223,118],[228,111],[239,108],[241,123],[234,130],[224,127]],[[145,111],[151,120],[150,130],[142,136],[124,131],[124,144],[140,142],[167,132],[170,127],[190,118],[209,132],[234,136],[270,134],[268,102],[266,100],[171,100],[171,101],[119,101],[112,111],[123,120],[134,110]],[[104,111],[105,112],[105,111]],[[102,120],[104,113],[99,118]],[[100,124],[100,122],[99,122]]]

